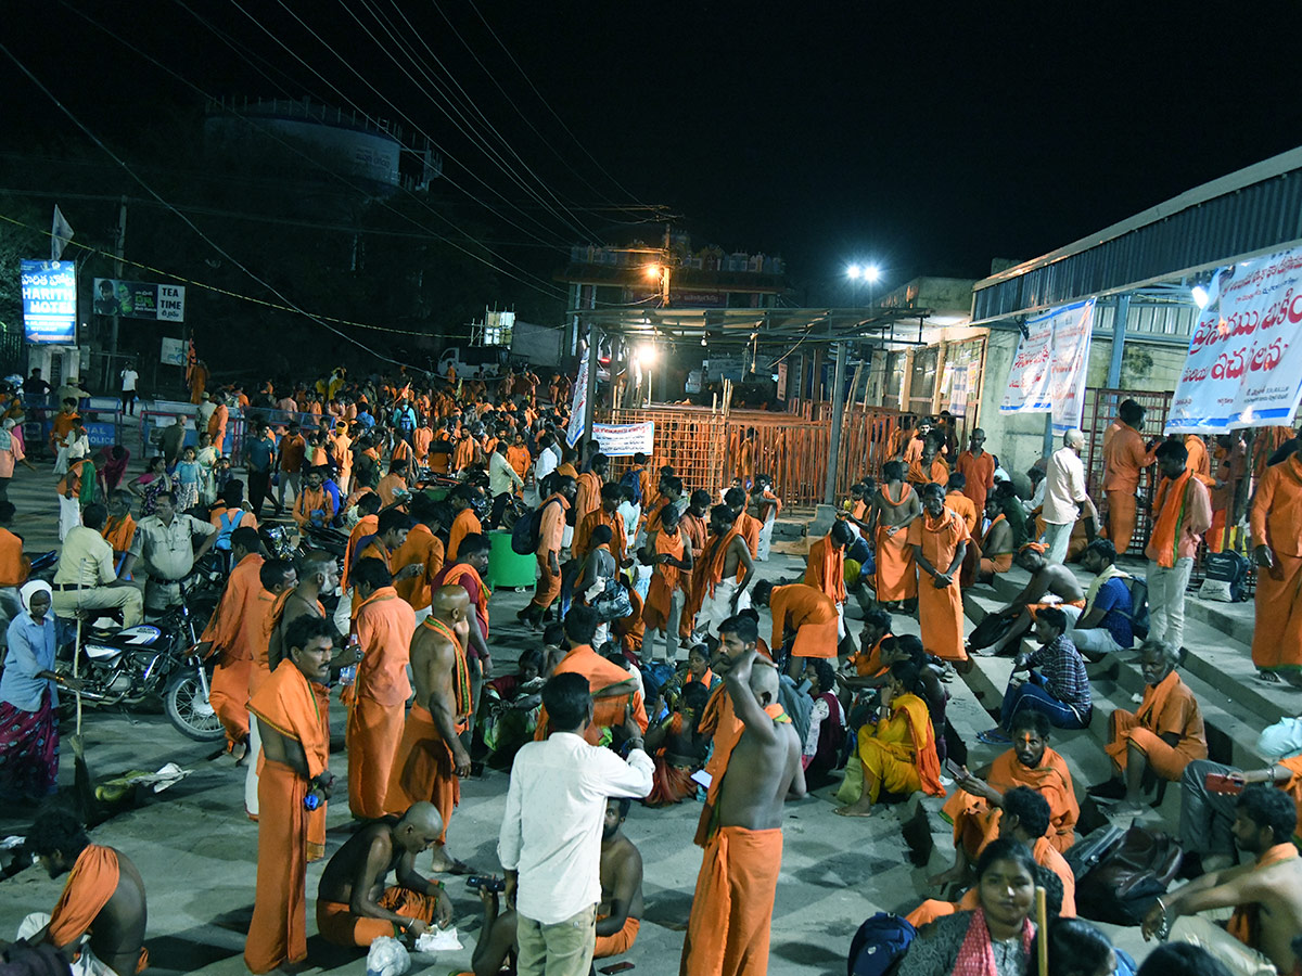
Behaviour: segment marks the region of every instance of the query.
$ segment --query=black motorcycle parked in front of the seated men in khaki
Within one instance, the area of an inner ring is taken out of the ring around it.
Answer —
[[[193,579],[193,578],[191,578]],[[189,582],[189,580],[187,580]],[[168,720],[182,735],[197,742],[215,742],[225,731],[208,703],[210,670],[195,653],[199,643],[189,604],[203,600],[211,580],[187,587],[182,600],[158,619],[134,627],[103,626],[103,616],[83,627],[76,639],[61,645],[56,673],[72,675],[79,656],[78,678],[86,701],[100,705],[138,705],[160,698]]]

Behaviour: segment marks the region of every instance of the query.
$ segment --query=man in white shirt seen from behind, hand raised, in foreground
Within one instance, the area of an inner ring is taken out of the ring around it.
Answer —
[[[517,972],[587,976],[602,901],[605,800],[646,796],[655,764],[631,716],[624,724],[628,761],[587,744],[592,696],[582,674],[548,681],[543,707],[553,731],[516,753],[497,856],[506,872],[506,903],[517,911]]]

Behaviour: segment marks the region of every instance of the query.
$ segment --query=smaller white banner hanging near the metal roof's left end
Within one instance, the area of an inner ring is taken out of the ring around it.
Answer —
[[[1052,413],[1059,433],[1079,427],[1092,332],[1092,298],[1029,319],[1026,334],[1017,344],[1000,413]]]

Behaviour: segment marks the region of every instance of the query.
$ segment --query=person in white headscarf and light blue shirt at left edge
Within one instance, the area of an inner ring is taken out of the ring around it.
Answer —
[[[78,687],[55,674],[52,591],[34,579],[20,591],[23,613],[9,623],[0,678],[0,798],[39,800],[59,778],[59,690]]]

